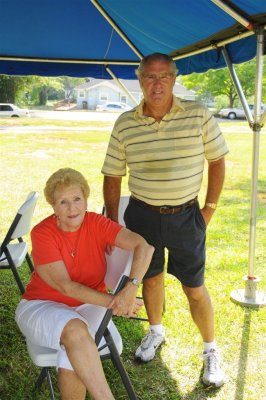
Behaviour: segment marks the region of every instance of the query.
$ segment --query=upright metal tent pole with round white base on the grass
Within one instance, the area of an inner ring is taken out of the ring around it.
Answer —
[[[254,123],[250,123],[253,131],[253,155],[252,155],[252,190],[250,209],[250,231],[249,231],[249,266],[248,275],[244,277],[245,289],[234,290],[231,300],[244,306],[259,307],[266,306],[266,295],[257,291],[259,277],[254,275],[255,270],[255,244],[256,244],[256,214],[257,214],[257,190],[258,190],[258,166],[259,166],[259,140],[260,130],[265,118],[261,118],[261,94],[262,94],[262,73],[263,73],[263,44],[264,28],[256,31],[257,56],[256,56],[256,86],[254,102]],[[242,100],[241,100],[242,102]],[[242,103],[243,104],[243,103]],[[263,115],[264,117],[264,115]]]

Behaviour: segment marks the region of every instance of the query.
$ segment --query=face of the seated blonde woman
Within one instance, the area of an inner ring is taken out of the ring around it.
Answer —
[[[55,215],[58,217],[58,226],[63,231],[76,231],[81,226],[87,210],[87,199],[77,185],[67,186],[55,190]]]

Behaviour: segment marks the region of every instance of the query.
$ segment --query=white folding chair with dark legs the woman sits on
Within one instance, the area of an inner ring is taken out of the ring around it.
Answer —
[[[114,293],[117,293],[128,280],[132,264],[132,253],[126,250],[115,248],[112,255],[106,256],[106,259],[107,273],[105,277],[105,283],[108,289],[112,290]],[[109,330],[109,325],[112,319],[112,310],[101,307],[101,310],[99,311],[99,307],[95,308],[95,318],[99,320],[99,327],[95,335],[95,343],[98,346],[100,357],[102,360],[108,358],[112,360],[115,368],[121,376],[129,399],[137,400],[136,393],[120,358],[123,348],[121,336],[117,331],[117,334],[115,335],[116,337],[114,337]],[[26,343],[31,360],[38,367],[42,367],[41,373],[37,378],[34,388],[40,388],[43,381],[47,379],[50,398],[51,400],[55,400],[50,376],[50,368],[56,367],[57,350],[36,346],[29,340],[26,340]]]

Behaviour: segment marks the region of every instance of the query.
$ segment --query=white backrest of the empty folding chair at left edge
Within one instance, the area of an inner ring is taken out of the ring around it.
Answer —
[[[31,220],[38,197],[38,192],[29,193],[27,199],[19,207],[17,214],[6,234],[6,237],[3,240],[3,248],[10,242],[10,240],[18,239],[30,231]]]

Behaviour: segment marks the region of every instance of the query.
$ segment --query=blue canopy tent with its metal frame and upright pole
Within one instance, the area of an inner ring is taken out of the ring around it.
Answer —
[[[254,136],[249,270],[236,296],[255,305],[265,302],[254,275],[265,25],[265,0],[0,0],[0,74],[135,79],[153,52],[171,55],[181,75],[228,66]],[[233,64],[254,57],[253,120]]]

